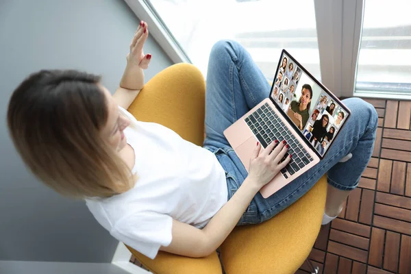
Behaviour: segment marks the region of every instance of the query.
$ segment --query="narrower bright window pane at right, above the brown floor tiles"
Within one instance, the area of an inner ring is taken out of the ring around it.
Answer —
[[[357,92],[411,95],[411,16],[408,0],[366,0]]]

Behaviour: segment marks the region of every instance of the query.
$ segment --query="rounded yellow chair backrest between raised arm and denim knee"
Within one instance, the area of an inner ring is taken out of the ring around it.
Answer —
[[[160,123],[196,145],[204,140],[206,82],[192,64],[164,69],[142,88],[128,111],[138,121]]]

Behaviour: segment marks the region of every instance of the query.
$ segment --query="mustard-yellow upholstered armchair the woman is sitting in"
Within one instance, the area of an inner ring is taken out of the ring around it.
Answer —
[[[175,64],[155,75],[129,107],[136,119],[160,123],[196,145],[204,139],[206,83],[192,64]],[[151,260],[127,247],[156,274],[295,273],[308,257],[323,218],[327,180],[319,182],[283,212],[258,225],[236,227],[206,258],[160,251]]]

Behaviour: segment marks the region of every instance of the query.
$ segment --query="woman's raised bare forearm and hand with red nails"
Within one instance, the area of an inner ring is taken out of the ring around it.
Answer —
[[[130,44],[130,52],[126,58],[127,66],[125,66],[123,77],[121,77],[120,87],[113,95],[116,103],[126,110],[144,86],[143,70],[148,68],[151,60],[151,54],[145,55],[142,51],[142,47],[149,36],[147,27],[147,23],[140,22]]]

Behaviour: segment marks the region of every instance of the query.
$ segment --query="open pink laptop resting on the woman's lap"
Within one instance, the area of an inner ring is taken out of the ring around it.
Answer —
[[[324,158],[349,115],[349,109],[283,49],[269,98],[224,135],[247,171],[256,142],[265,148],[286,140],[292,159],[260,190],[267,198]]]

